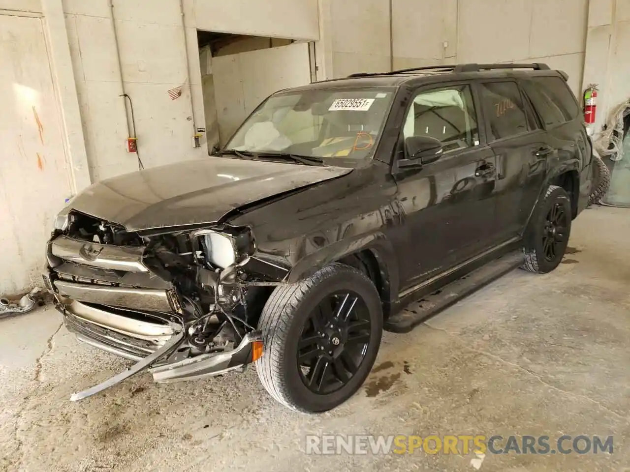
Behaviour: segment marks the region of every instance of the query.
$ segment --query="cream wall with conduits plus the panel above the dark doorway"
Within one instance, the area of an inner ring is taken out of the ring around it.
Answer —
[[[180,0],[160,0],[159,6],[113,0],[119,64],[108,0],[63,0],[63,5],[93,181],[138,168],[136,156],[125,150],[127,121],[133,126],[129,102],[125,115],[120,97],[123,89],[133,102],[144,166],[207,155],[205,135],[200,147],[193,146],[195,128],[207,127],[197,28],[313,40],[319,34],[316,0],[184,0],[185,27]],[[182,85],[183,94],[171,100],[168,90]]]

